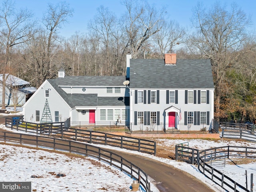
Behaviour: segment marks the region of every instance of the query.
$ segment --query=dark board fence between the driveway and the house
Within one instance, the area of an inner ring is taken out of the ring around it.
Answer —
[[[12,118],[6,118],[5,121],[6,127],[10,127],[15,130],[34,134],[43,134],[62,139],[65,138],[81,142],[115,146],[156,156],[156,142],[151,140],[76,128],[66,128],[64,127],[64,122],[35,124],[17,120],[19,123],[13,124]]]

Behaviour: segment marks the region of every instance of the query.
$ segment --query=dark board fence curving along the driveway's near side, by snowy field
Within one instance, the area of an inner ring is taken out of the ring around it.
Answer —
[[[81,144],[77,141],[64,140],[60,138],[50,138],[46,136],[33,136],[29,134],[20,134],[13,132],[1,132],[0,138],[4,142],[18,142],[20,145],[34,144],[38,146],[48,146],[54,150],[65,150],[72,153],[79,153],[86,156],[92,156],[109,163],[111,166],[119,168],[122,172],[130,175],[131,178],[138,180],[140,185],[146,192],[151,192],[148,175],[132,162],[122,158],[122,156],[112,153],[108,150],[92,146],[89,144]]]

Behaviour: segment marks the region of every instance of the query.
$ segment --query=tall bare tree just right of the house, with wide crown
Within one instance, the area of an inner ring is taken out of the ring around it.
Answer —
[[[209,10],[198,3],[194,8],[192,24],[197,31],[190,36],[189,46],[197,50],[202,58],[211,59],[216,86],[215,116],[219,117],[221,97],[225,94],[222,82],[226,71],[237,59],[237,55],[232,53],[237,52],[246,40],[250,18],[236,4],[232,4],[228,12],[219,2]]]

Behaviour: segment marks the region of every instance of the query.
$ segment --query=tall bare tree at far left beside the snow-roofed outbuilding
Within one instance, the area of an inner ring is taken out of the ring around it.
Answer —
[[[5,109],[5,87],[8,70],[12,67],[12,47],[30,40],[34,22],[31,22],[32,13],[27,9],[16,10],[11,0],[2,2],[0,8],[0,35],[1,47],[4,48],[4,60],[0,63],[2,80],[2,109]]]

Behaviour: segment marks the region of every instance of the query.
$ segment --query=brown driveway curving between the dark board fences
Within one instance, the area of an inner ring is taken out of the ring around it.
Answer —
[[[0,124],[4,123],[4,119],[4,117],[0,117]],[[6,130],[0,129],[0,134],[3,131]],[[156,182],[154,184],[160,192],[214,192],[194,176],[168,164],[132,153],[109,149],[108,151],[122,156],[144,170],[150,178],[154,179]]]

